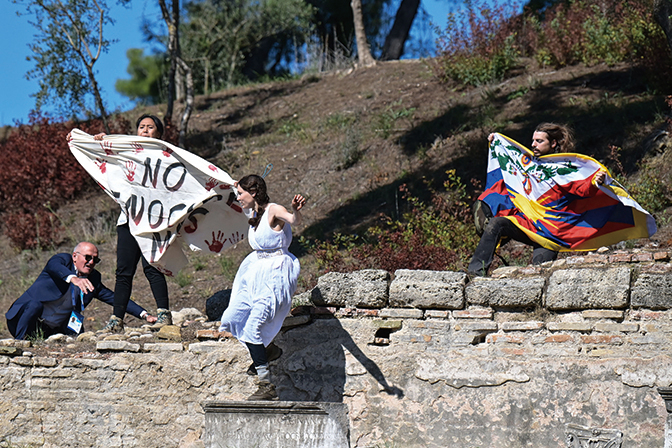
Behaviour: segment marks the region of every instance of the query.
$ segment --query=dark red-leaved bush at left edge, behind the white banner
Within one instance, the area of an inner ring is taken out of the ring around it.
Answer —
[[[110,120],[111,131],[126,133],[128,120]],[[96,134],[100,120],[54,122],[31,114],[0,142],[0,213],[4,232],[19,249],[46,248],[58,238],[53,211],[93,181],[68,149],[66,136],[74,127]]]

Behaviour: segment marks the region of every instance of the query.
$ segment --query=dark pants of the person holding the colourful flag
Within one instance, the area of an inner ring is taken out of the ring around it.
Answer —
[[[492,258],[495,255],[497,244],[503,237],[509,237],[512,240],[532,246],[532,264],[541,264],[546,261],[555,260],[558,253],[546,249],[534,243],[530,238],[520,230],[510,219],[504,217],[492,218],[485,226],[481,241],[478,243],[474,256],[469,263],[469,273],[472,275],[484,276],[492,264]]]

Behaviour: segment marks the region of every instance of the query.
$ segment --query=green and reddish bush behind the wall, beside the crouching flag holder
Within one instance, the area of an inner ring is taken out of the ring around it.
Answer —
[[[381,216],[380,224],[363,236],[336,234],[330,241],[300,243],[324,271],[377,268],[458,270],[464,267],[478,242],[472,222],[470,197],[454,170],[446,172],[446,192],[426,185],[431,200],[423,202],[406,185],[399,191],[406,200],[401,219]]]

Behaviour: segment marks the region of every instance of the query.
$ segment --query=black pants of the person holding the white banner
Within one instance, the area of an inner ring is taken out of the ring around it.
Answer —
[[[128,301],[131,299],[133,276],[142,259],[142,269],[149,280],[157,308],[168,309],[168,285],[166,277],[142,256],[138,242],[135,241],[128,224],[117,226],[117,280],[114,285],[114,315],[123,319]]]

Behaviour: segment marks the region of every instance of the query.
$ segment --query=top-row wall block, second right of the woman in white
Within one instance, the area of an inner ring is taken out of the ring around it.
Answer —
[[[460,309],[466,283],[463,272],[399,269],[390,285],[390,306]]]

